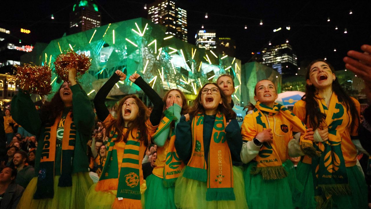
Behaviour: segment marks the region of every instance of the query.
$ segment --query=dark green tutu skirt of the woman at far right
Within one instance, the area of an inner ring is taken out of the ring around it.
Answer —
[[[328,209],[365,209],[367,203],[367,184],[357,165],[347,167],[348,182],[351,189],[350,195],[332,196]],[[302,193],[294,193],[294,206],[299,209],[315,209],[317,203],[314,198],[313,176],[310,164],[299,162],[297,167],[297,178],[303,184]]]

